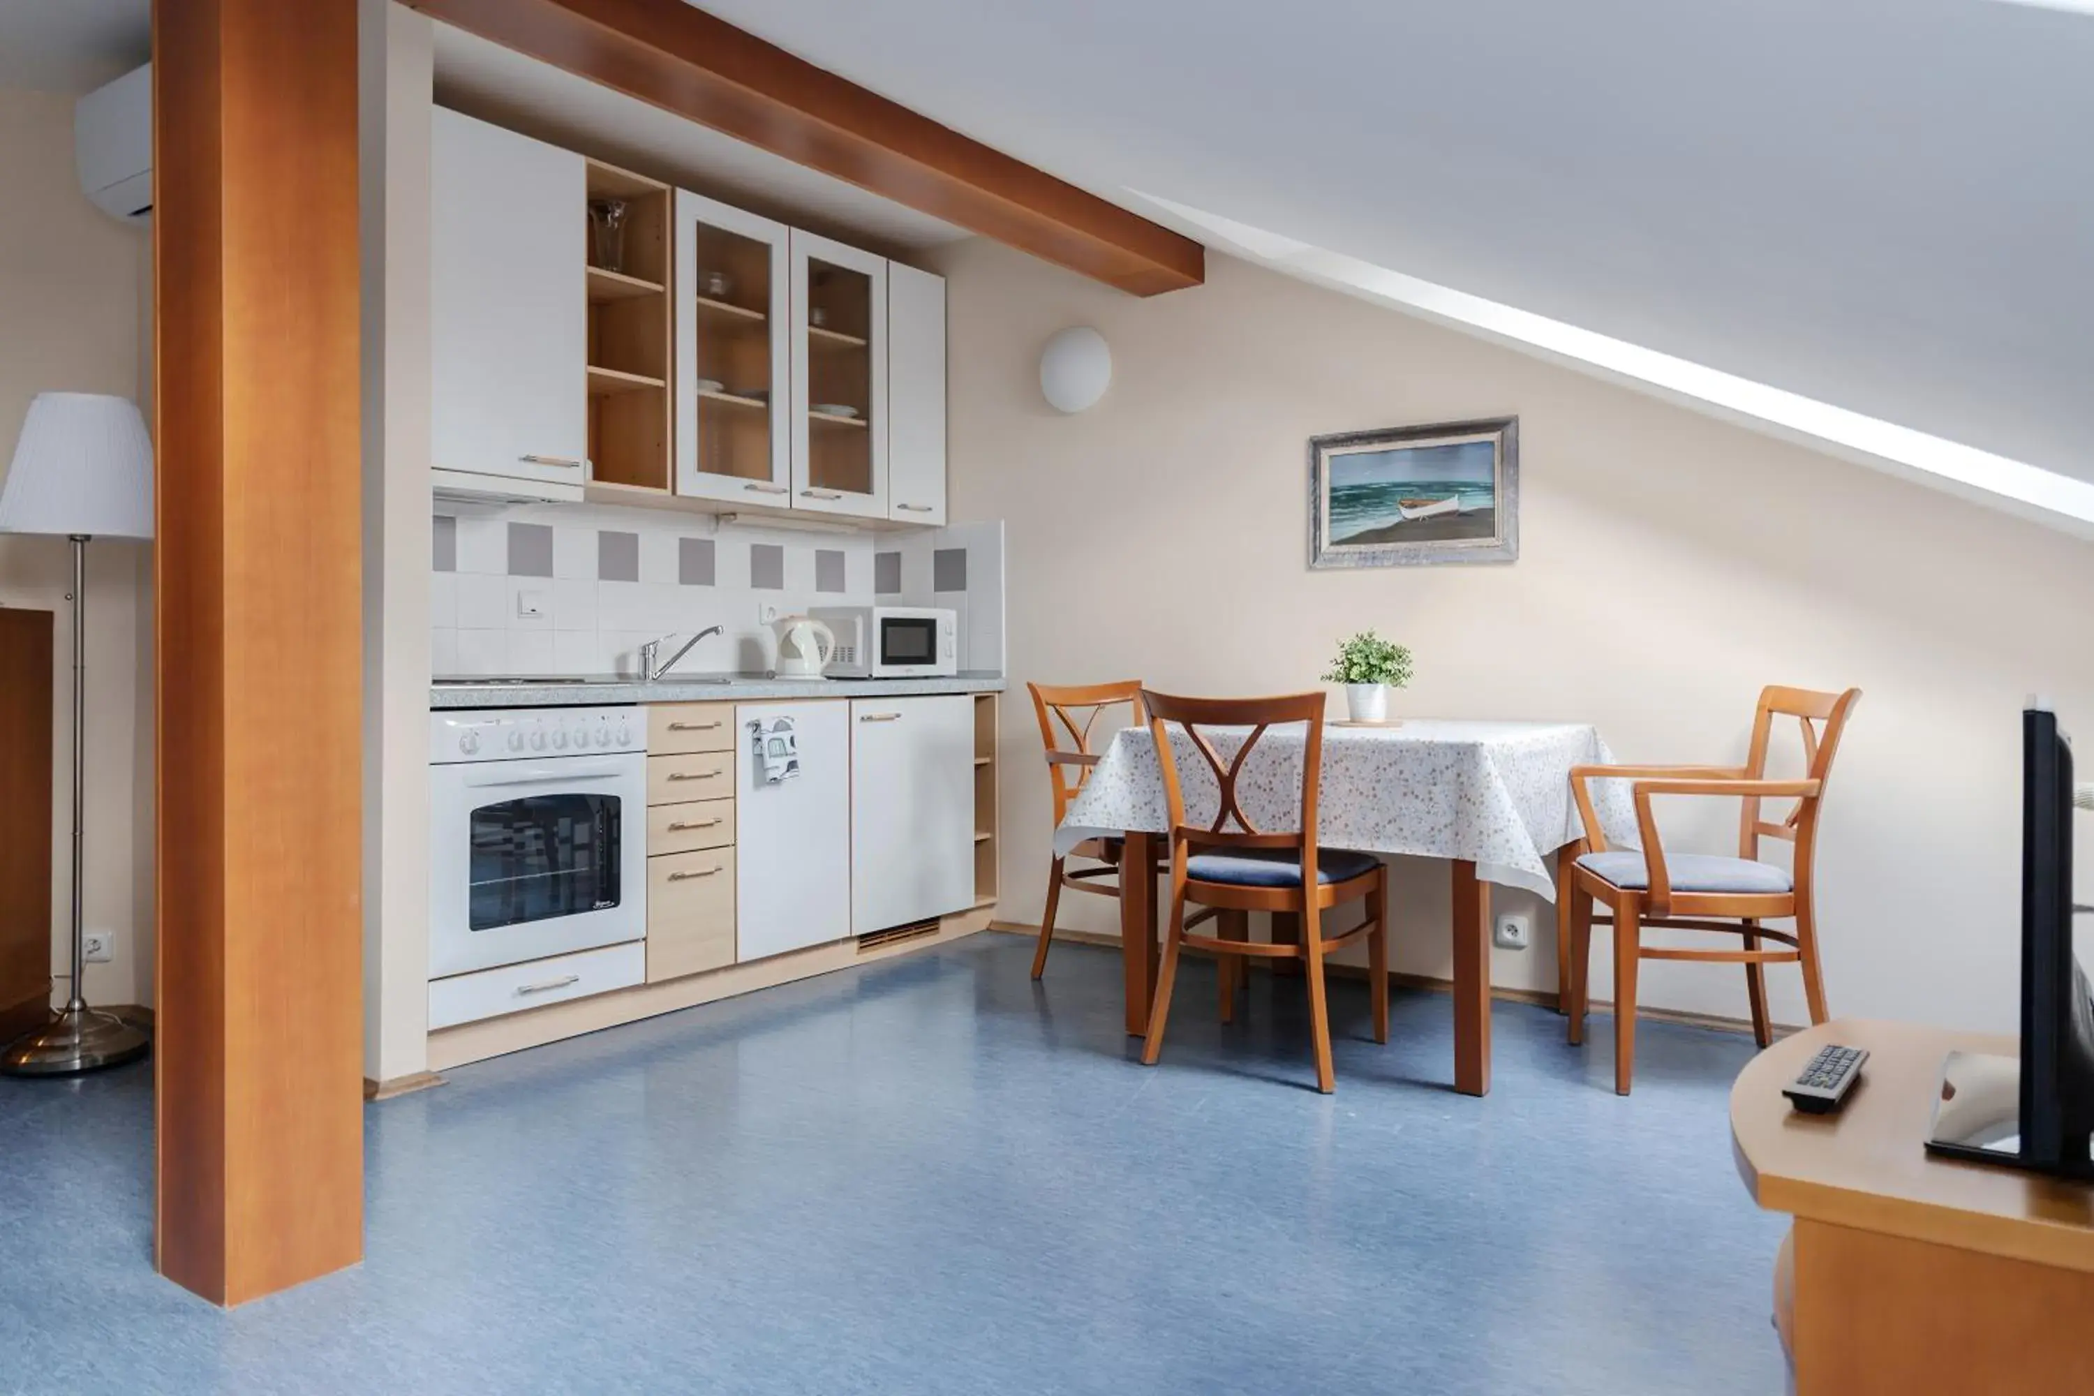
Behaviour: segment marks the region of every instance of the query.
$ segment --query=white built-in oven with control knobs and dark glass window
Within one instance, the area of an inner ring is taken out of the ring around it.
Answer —
[[[429,714],[429,977],[647,936],[647,722]]]

